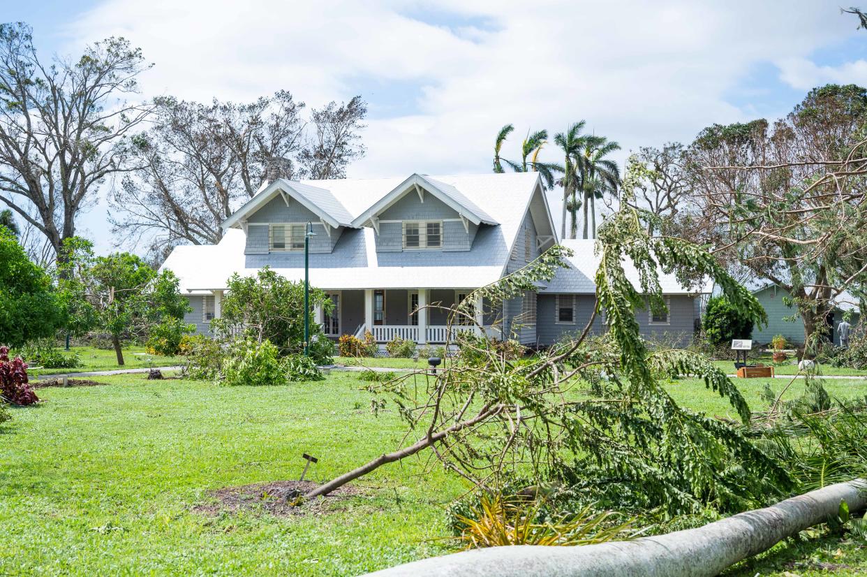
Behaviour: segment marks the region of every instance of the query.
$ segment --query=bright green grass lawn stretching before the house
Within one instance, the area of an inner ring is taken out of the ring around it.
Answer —
[[[325,515],[195,510],[214,489],[297,478],[303,452],[323,481],[397,447],[403,424],[394,410],[371,416],[355,373],[267,388],[98,380],[108,386],[40,389],[45,403],[0,426],[0,574],[353,575],[447,551],[443,508],[466,486],[415,458],[355,482],[362,494]],[[753,408],[766,381],[738,382]],[[733,416],[695,379],[667,386],[695,410]],[[867,394],[867,381],[827,387]]]

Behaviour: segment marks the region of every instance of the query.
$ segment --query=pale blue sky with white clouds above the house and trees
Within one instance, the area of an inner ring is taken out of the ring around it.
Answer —
[[[714,122],[783,115],[819,84],[867,85],[867,32],[837,2],[0,4],[5,20],[33,25],[43,56],[126,36],[154,63],[146,95],[251,100],[288,89],[318,107],[360,94],[368,154],[354,177],[486,172],[507,122],[507,157],[528,129],[585,119],[623,145],[623,160]],[[84,225],[107,249],[105,217],[95,207]]]

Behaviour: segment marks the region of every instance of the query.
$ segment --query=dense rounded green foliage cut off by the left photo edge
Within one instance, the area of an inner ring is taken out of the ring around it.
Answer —
[[[51,278],[27,258],[16,237],[0,227],[0,344],[21,346],[51,337],[62,310]]]

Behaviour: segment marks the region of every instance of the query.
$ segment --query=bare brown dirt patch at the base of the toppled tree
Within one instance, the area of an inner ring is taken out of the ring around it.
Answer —
[[[361,489],[344,485],[335,491],[310,501],[303,502],[300,496],[318,483],[312,481],[275,481],[260,482],[241,487],[226,487],[212,491],[209,495],[217,503],[199,505],[194,510],[199,513],[218,515],[220,511],[264,510],[271,515],[327,515],[336,510],[333,503],[341,502],[352,495],[361,495]]]

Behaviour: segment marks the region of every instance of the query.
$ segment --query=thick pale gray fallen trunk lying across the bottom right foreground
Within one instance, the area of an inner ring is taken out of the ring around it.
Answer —
[[[774,544],[838,515],[867,508],[864,481],[838,483],[772,507],[746,511],[704,527],[582,547],[490,547],[392,567],[380,577],[703,577],[759,554]]]

